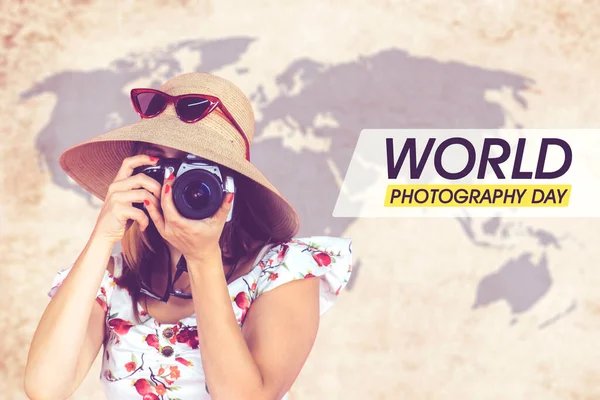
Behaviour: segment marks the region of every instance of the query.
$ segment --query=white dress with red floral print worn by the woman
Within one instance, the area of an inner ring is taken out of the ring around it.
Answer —
[[[138,304],[142,323],[135,322],[127,289],[115,283],[123,268],[122,253],[113,254],[114,275],[105,272],[96,301],[106,311],[100,379],[109,400],[210,399],[198,348],[196,317],[161,324]],[[48,293],[54,296],[73,265],[57,273]],[[247,311],[262,293],[295,279],[317,277],[320,314],[336,301],[352,273],[352,241],[313,236],[263,249],[254,267],[228,285],[240,328]],[[286,394],[283,399],[287,399]]]

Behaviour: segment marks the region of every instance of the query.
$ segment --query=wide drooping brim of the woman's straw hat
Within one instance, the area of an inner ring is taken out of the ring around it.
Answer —
[[[236,142],[232,135],[237,135],[237,131],[232,131],[223,118],[209,115],[205,119],[189,124],[170,113],[141,119],[68,148],[60,155],[59,164],[78,185],[104,201],[123,160],[133,155],[135,142],[155,143],[195,154],[248,178],[247,201],[271,227],[274,240],[295,236],[299,230],[296,210],[232,145]]]

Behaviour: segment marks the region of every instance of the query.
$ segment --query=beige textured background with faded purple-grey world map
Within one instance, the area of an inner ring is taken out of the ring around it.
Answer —
[[[600,122],[596,1],[0,2],[0,388],[99,211],[60,152],[192,70],[252,96],[302,235],[354,239],[294,399],[598,399],[595,220],[333,219],[358,133]],[[98,364],[73,399],[101,399]],[[60,373],[57,371],[57,373]]]

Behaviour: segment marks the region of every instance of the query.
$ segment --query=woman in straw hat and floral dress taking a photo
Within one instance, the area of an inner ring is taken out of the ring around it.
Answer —
[[[132,102],[139,122],[60,157],[104,205],[51,285],[28,396],[71,395],[104,345],[109,399],[286,398],[350,277],[351,241],[294,238],[298,215],[250,163],[252,107],[229,81],[179,75]],[[221,186],[188,184],[191,167]]]

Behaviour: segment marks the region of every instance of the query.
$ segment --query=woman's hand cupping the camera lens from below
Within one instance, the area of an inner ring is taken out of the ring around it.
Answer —
[[[154,205],[146,205],[148,214],[152,218],[158,233],[164,240],[181,251],[189,262],[191,260],[204,260],[220,251],[219,239],[225,226],[233,193],[228,193],[223,199],[221,207],[209,218],[194,220],[184,218],[179,214],[173,203],[172,186],[175,175],[167,169],[168,175],[162,187],[160,206],[162,215]]]

